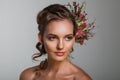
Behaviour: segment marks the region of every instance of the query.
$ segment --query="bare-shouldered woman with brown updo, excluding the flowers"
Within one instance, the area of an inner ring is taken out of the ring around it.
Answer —
[[[40,53],[33,59],[47,54],[40,65],[24,70],[20,80],[91,80],[90,76],[68,59],[73,51],[77,25],[74,16],[63,5],[53,4],[37,16]]]

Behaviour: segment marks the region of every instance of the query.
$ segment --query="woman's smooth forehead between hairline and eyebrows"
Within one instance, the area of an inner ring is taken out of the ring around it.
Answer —
[[[73,24],[70,20],[52,21],[46,27],[47,33],[73,33]]]

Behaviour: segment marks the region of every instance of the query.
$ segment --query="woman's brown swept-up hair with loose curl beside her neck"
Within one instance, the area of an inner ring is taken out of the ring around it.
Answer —
[[[68,19],[73,23],[74,26],[73,34],[75,35],[77,29],[75,18],[73,14],[64,5],[60,4],[52,4],[38,13],[37,24],[40,34],[42,36],[44,35],[45,29],[51,21],[63,19]],[[39,50],[39,53],[33,55],[32,57],[33,60],[36,60],[36,58],[42,56],[43,54],[46,54],[44,45],[41,45],[40,42],[36,44],[36,48]]]

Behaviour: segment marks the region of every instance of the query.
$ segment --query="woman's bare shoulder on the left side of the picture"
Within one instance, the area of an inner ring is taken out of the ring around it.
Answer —
[[[19,80],[33,80],[36,71],[39,69],[38,66],[30,67],[25,69],[21,74],[20,74],[20,79]]]

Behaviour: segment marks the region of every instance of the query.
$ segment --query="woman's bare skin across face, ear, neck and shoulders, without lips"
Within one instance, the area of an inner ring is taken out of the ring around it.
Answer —
[[[48,66],[45,70],[41,70],[39,65],[26,69],[21,73],[20,80],[92,80],[68,59],[75,42],[71,21],[52,21],[44,35],[39,34],[38,37],[48,54]],[[64,54],[59,56],[56,52]]]

